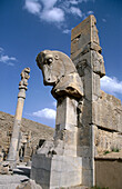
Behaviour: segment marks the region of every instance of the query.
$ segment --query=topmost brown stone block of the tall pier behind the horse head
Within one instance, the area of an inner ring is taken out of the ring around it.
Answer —
[[[71,59],[74,59],[78,57],[78,54],[84,54],[90,50],[94,50],[101,53],[95,23],[96,20],[94,16],[89,16],[79,26],[72,29]]]

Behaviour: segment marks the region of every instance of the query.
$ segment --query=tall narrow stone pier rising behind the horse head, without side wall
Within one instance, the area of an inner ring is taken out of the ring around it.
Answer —
[[[100,78],[105,74],[96,20],[89,16],[71,33],[71,59],[83,82],[84,96],[79,105],[78,156],[82,157],[82,185],[94,186],[93,102],[101,96]]]

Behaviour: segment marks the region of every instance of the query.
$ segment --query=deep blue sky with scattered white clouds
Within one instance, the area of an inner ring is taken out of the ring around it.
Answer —
[[[20,73],[30,67],[23,117],[54,127],[55,100],[51,87],[43,86],[35,57],[44,49],[70,56],[71,29],[91,13],[106,70],[101,88],[122,100],[121,0],[1,0],[0,111],[14,115]]]

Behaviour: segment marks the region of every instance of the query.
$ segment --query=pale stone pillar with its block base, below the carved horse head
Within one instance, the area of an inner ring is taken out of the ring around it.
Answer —
[[[82,157],[77,156],[77,107],[71,97],[58,99],[55,136],[32,157],[31,179],[42,188],[72,188],[82,183]]]

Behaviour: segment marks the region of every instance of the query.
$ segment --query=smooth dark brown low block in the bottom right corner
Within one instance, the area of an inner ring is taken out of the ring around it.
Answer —
[[[100,188],[122,188],[122,159],[95,159],[95,186]]]

